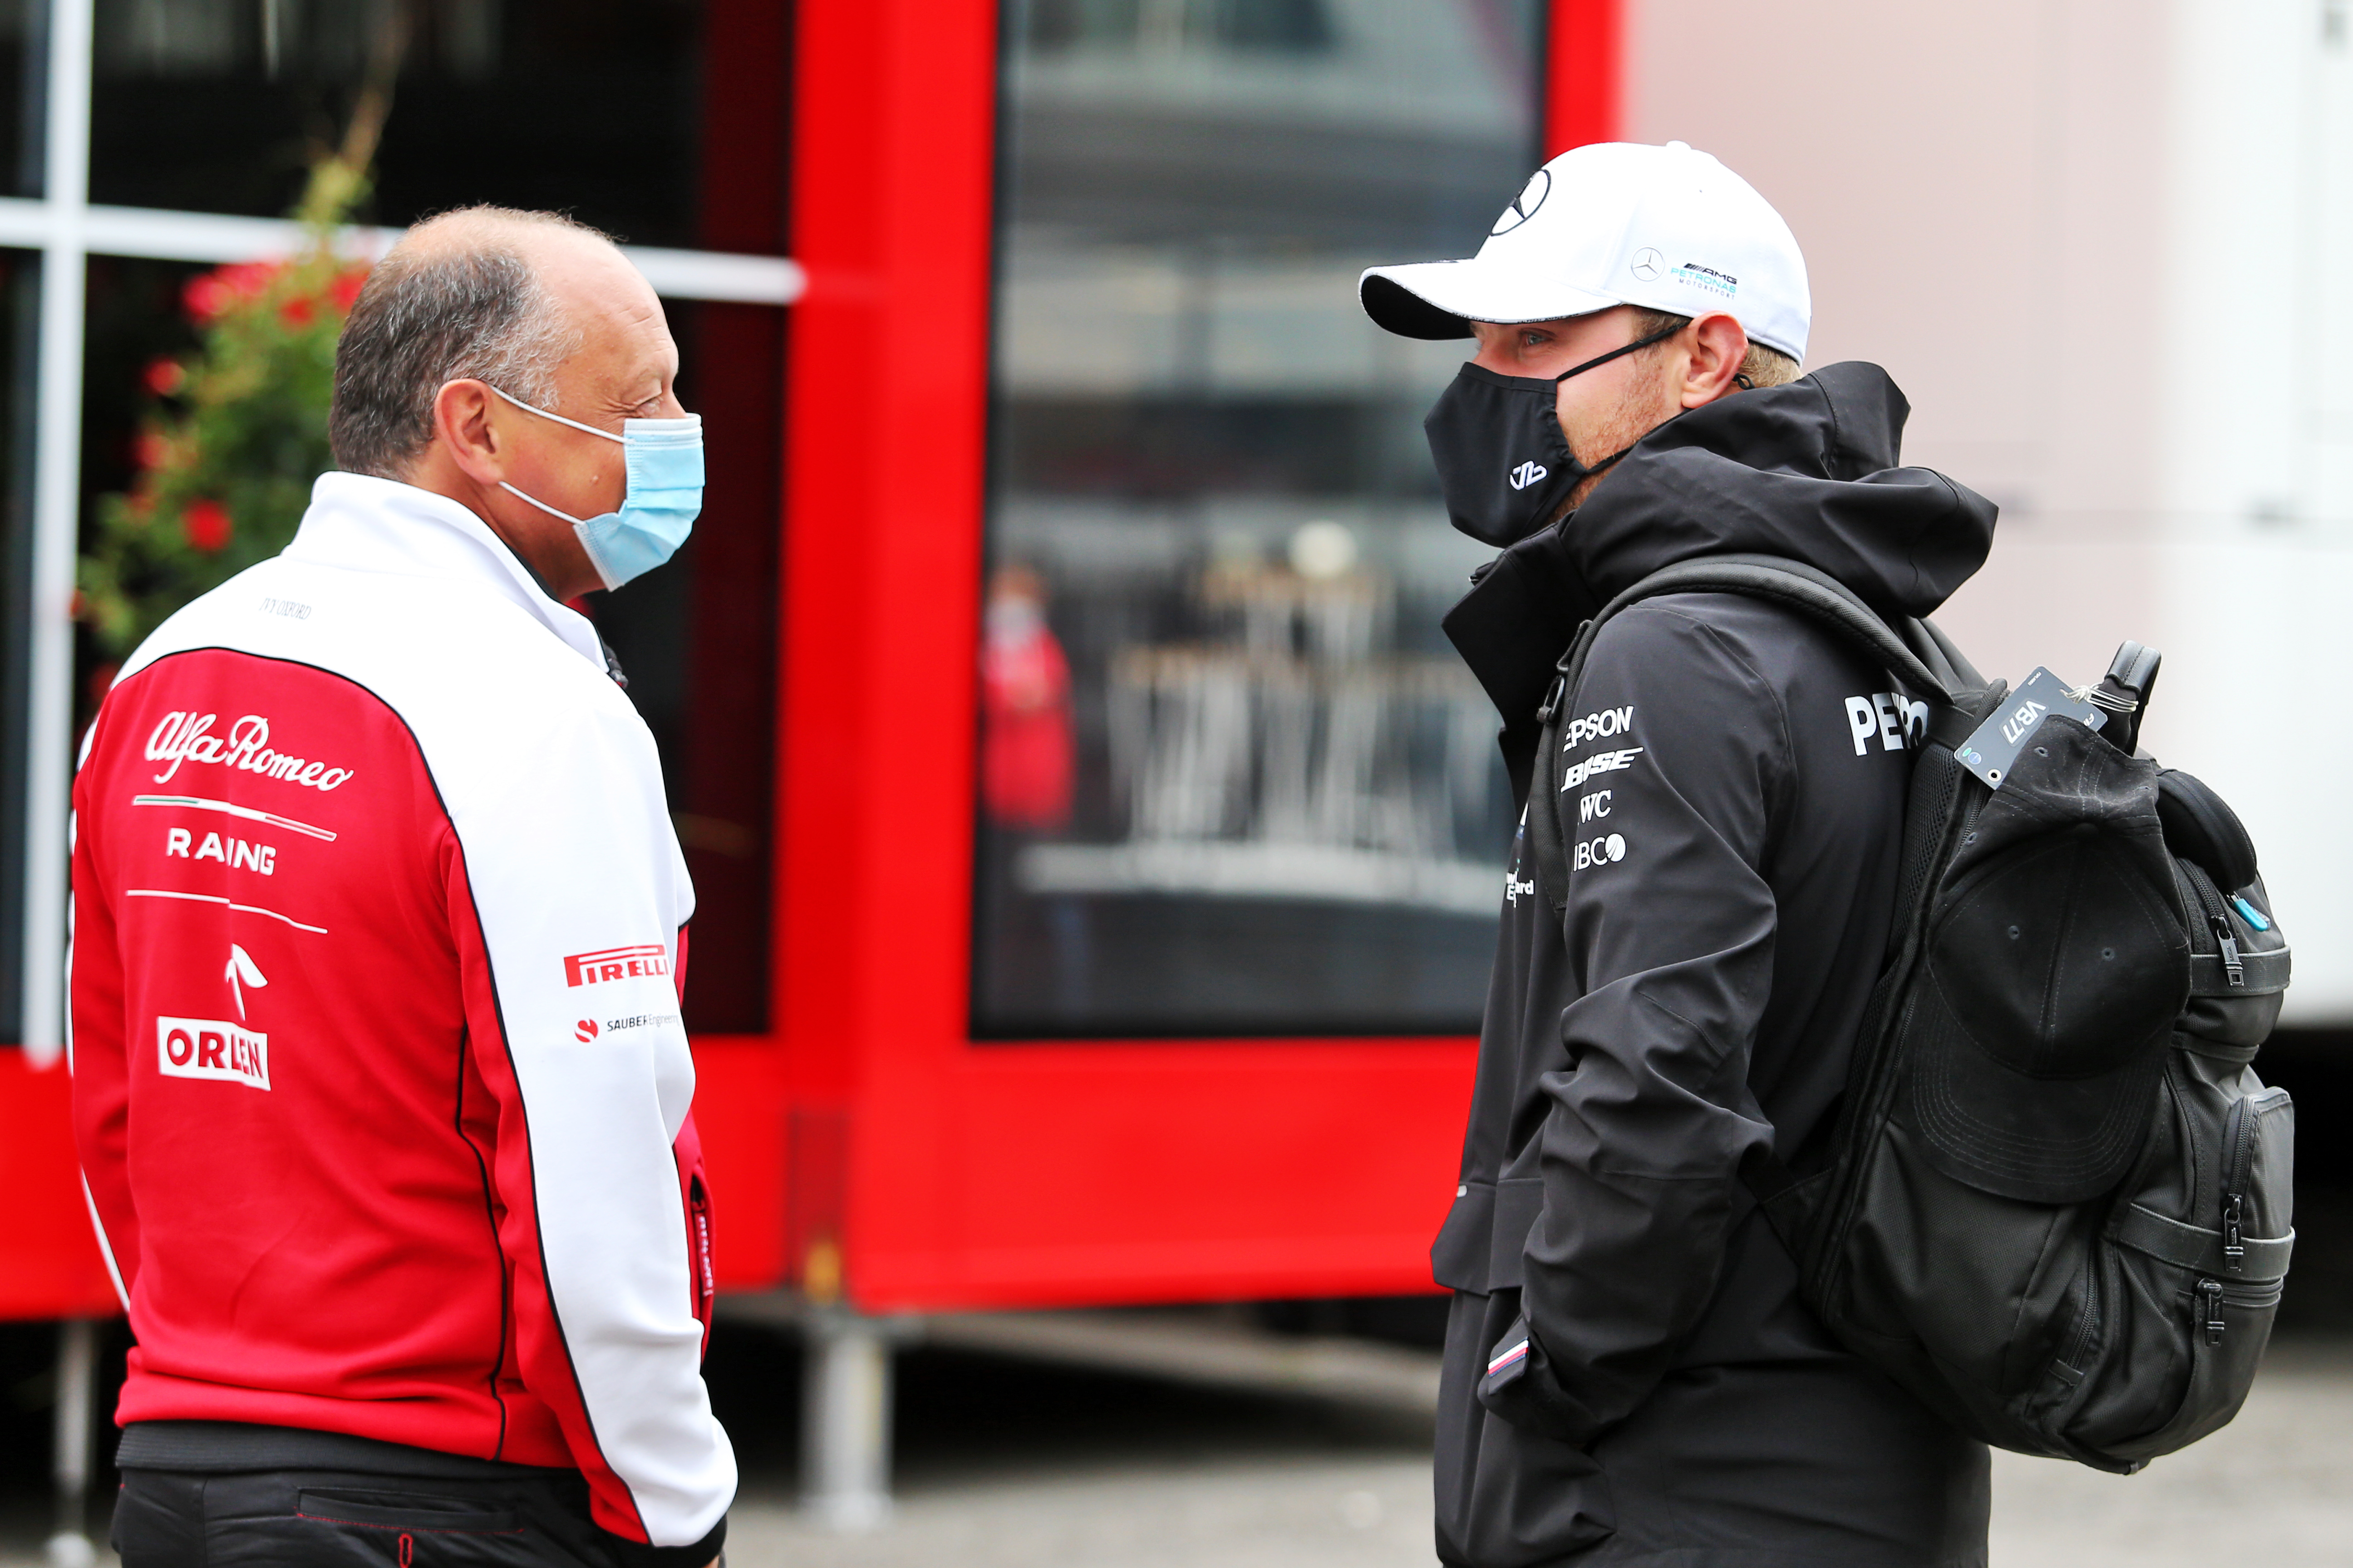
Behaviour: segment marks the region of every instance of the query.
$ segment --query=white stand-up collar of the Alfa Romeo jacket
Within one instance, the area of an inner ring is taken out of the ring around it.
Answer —
[[[574,654],[607,670],[588,616],[546,595],[529,567],[468,508],[428,489],[355,473],[322,473],[311,487],[287,559],[348,571],[461,578],[532,614]]]

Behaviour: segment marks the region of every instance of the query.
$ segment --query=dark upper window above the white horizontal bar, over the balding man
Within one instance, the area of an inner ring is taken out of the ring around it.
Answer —
[[[315,150],[344,134],[393,9],[395,0],[99,0],[89,197],[285,214]],[[711,235],[713,197],[725,193],[708,174],[746,155],[779,162],[784,118],[760,110],[781,103],[788,9],[412,0],[365,216],[409,223],[504,202],[569,212],[638,244],[781,254],[781,223],[736,223],[744,233],[725,242]],[[760,73],[772,80],[751,80]],[[706,92],[706,80],[722,92]],[[727,139],[711,134],[715,122],[727,122]],[[774,212],[779,188],[781,179],[732,195]]]

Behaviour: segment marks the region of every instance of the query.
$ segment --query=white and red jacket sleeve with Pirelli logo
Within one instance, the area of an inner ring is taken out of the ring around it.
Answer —
[[[673,971],[685,863],[652,738],[619,705],[525,717],[527,769],[452,802],[449,912],[520,1378],[558,1418],[621,1561],[718,1552],[736,1472],[701,1380],[699,1182]]]

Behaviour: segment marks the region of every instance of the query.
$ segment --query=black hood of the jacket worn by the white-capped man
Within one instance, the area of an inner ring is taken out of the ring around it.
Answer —
[[[1499,555],[1445,630],[1504,715],[1527,788],[1534,712],[1577,628],[1652,571],[1701,555],[1784,555],[1889,618],[1927,616],[1986,562],[1995,505],[1899,468],[1911,402],[1845,362],[1720,397],[1652,430],[1593,498]]]

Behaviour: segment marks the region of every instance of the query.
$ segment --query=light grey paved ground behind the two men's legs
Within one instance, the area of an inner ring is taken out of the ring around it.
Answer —
[[[2238,1422],[2139,1476],[2017,1455],[1995,1455],[1993,1476],[1995,1568],[2353,1563],[2353,1347],[2282,1345]],[[755,1497],[734,1530],[736,1568],[1433,1561],[1424,1450],[1377,1439],[1339,1455],[1294,1439],[1231,1460],[1101,1453],[1056,1474],[911,1479],[896,1523],[868,1537],[819,1535]]]

